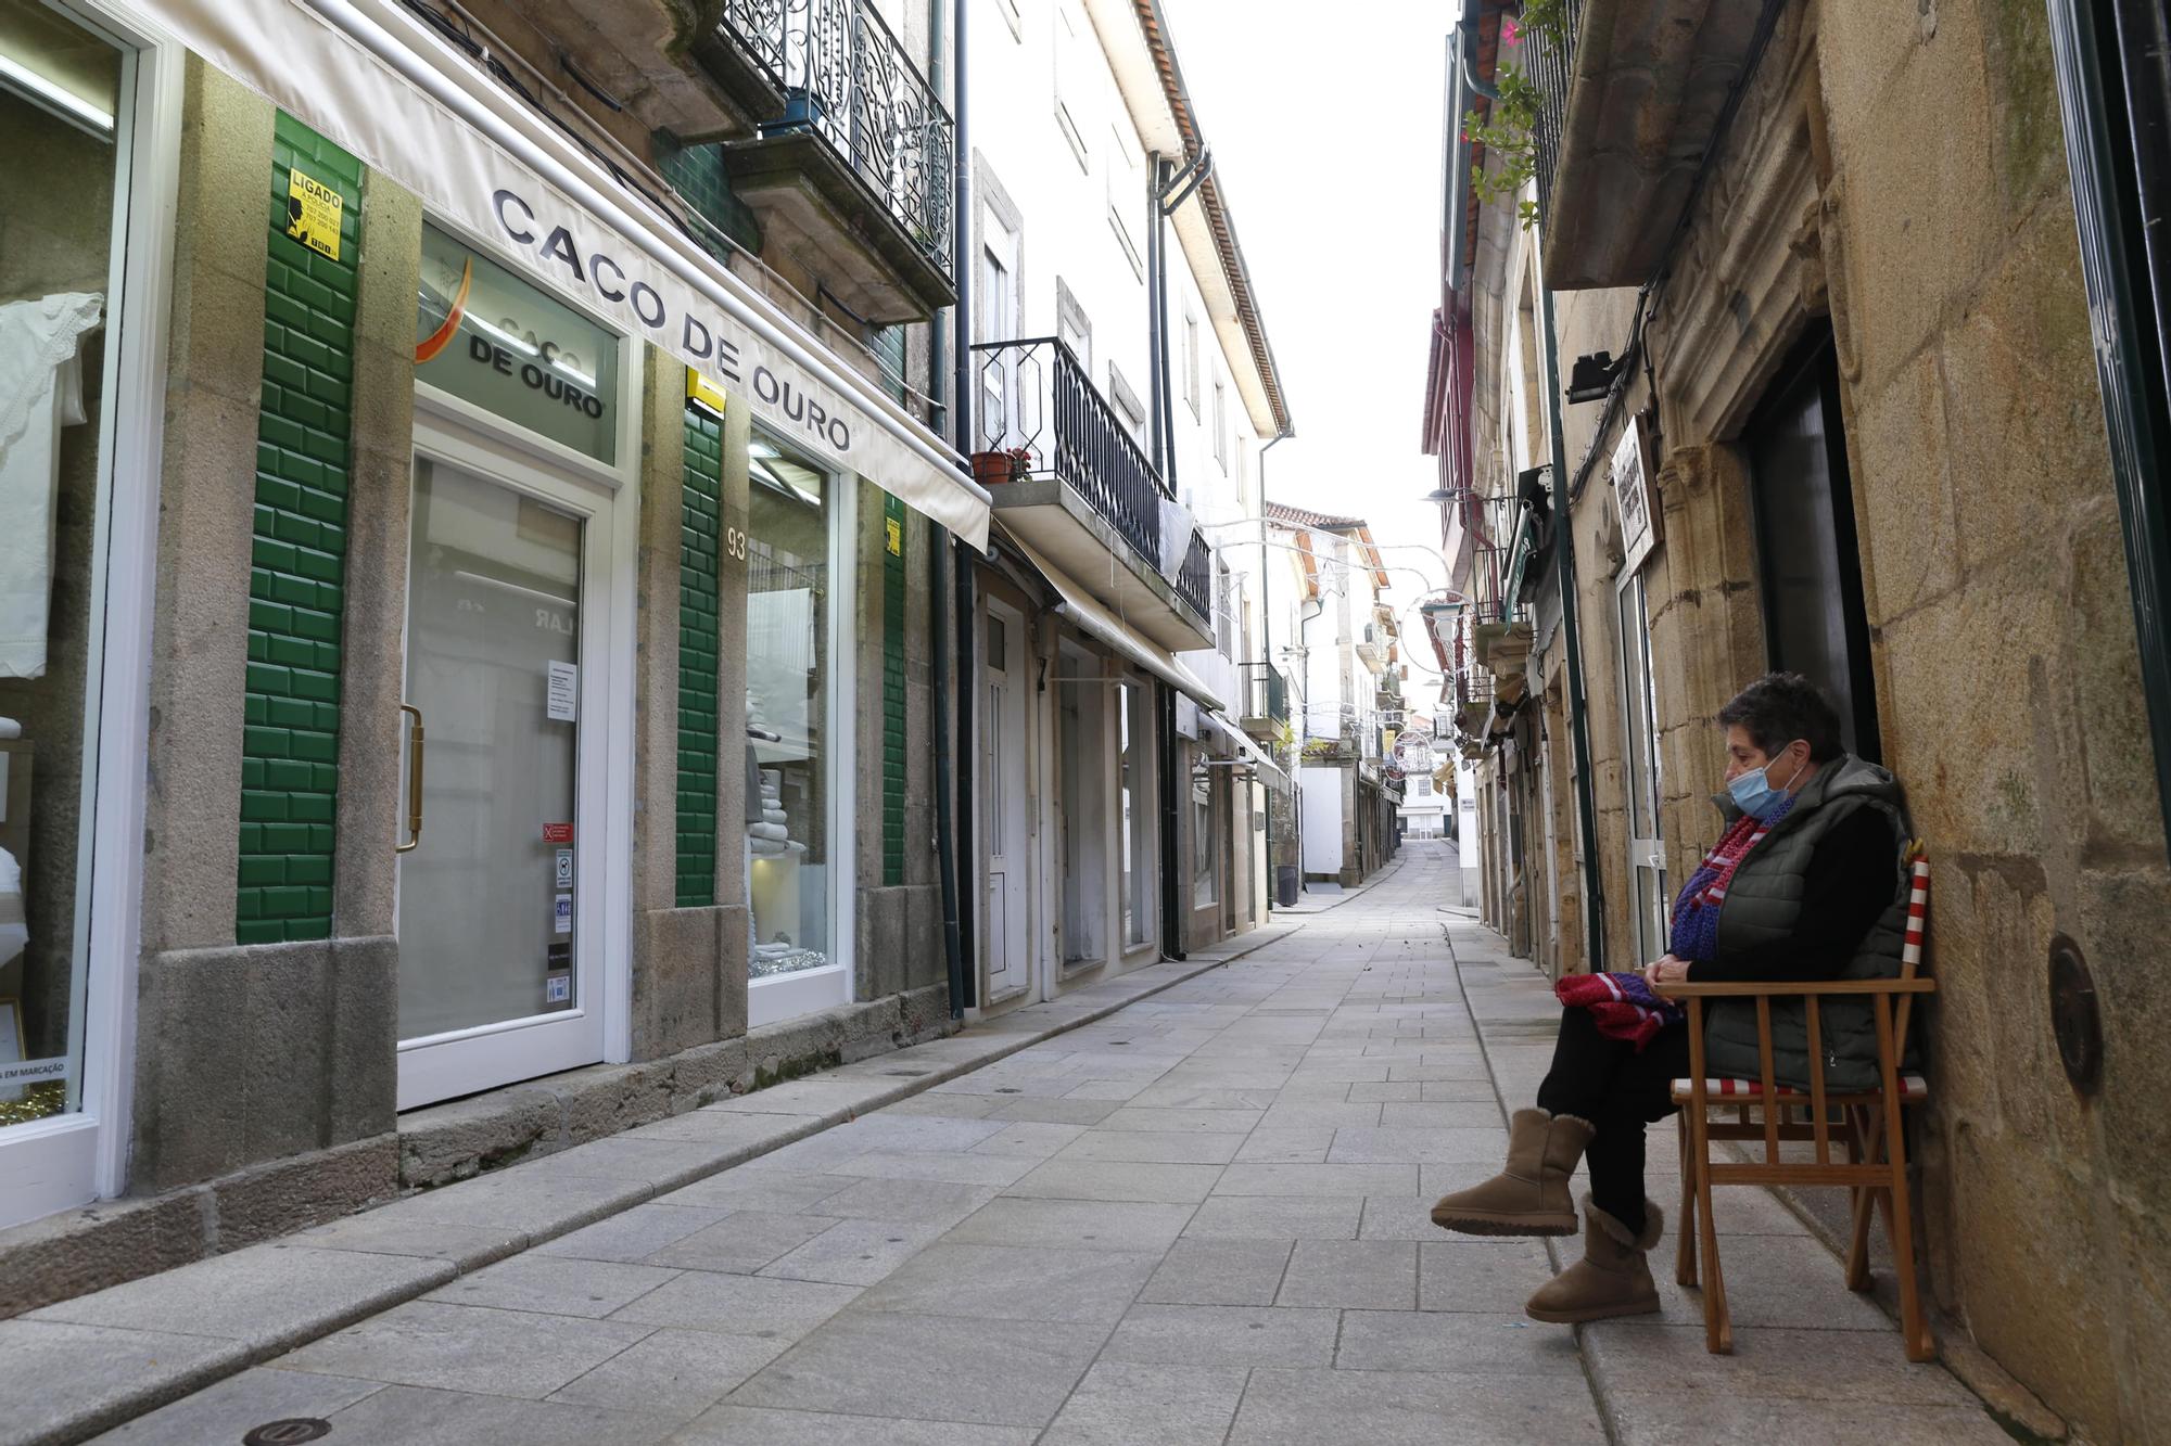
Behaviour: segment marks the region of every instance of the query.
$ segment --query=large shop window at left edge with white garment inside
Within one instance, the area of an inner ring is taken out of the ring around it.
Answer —
[[[126,76],[56,11],[0,2],[0,1127],[82,1107]]]

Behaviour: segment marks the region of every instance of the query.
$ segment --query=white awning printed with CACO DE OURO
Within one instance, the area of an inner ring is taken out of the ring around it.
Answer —
[[[126,7],[415,191],[434,221],[986,547],[988,493],[951,447],[395,0]]]

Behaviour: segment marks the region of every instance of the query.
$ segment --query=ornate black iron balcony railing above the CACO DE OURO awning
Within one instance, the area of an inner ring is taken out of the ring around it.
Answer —
[[[951,276],[955,126],[868,0],[723,0],[723,39],[779,91],[762,135],[812,130]]]

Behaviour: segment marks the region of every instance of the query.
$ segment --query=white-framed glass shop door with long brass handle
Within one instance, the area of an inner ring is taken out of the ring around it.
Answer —
[[[610,584],[604,489],[417,441],[402,1109],[604,1057]]]

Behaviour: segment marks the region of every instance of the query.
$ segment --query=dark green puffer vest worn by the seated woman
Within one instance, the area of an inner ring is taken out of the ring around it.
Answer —
[[[1732,799],[1719,795],[1728,825],[1741,816]],[[1874,808],[1891,823],[1893,899],[1856,944],[1841,979],[1897,979],[1906,942],[1908,881],[1902,855],[1913,838],[1900,784],[1884,769],[1852,753],[1826,762],[1808,779],[1787,816],[1763,836],[1726,886],[1719,903],[1719,957],[1754,953],[1787,938],[1802,914],[1802,884],[1808,855],[1832,825],[1856,810]],[[1808,1088],[1808,1023],[1802,999],[1772,1001],[1772,1066],[1780,1083]],[[1828,1090],[1874,1090],[1878,1083],[1876,1005],[1867,999],[1826,999],[1824,1086]],[[1756,1079],[1756,1005],[1745,999],[1713,1001],[1704,1020],[1704,1070]]]

